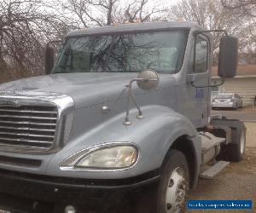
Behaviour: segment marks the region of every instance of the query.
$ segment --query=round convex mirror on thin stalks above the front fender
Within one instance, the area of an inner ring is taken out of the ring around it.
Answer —
[[[137,75],[137,86],[143,90],[155,89],[159,84],[157,72],[146,70]]]

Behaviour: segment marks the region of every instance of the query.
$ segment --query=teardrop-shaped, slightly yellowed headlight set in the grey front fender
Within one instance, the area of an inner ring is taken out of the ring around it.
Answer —
[[[75,156],[75,158],[74,158]],[[82,155],[75,154],[67,158],[61,167],[73,167],[73,169],[124,169],[137,162],[137,148],[131,145],[118,145],[98,148]]]

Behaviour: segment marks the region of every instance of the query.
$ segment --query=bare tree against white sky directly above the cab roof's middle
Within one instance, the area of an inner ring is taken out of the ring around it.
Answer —
[[[149,0],[67,0],[63,5],[69,13],[77,16],[83,27],[144,22],[165,11]]]

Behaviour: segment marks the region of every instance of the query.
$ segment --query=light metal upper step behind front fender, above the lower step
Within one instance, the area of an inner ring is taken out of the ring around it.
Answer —
[[[224,138],[216,137],[209,132],[200,132],[201,136],[201,151],[205,153],[212,147],[218,146],[220,143],[224,142]]]

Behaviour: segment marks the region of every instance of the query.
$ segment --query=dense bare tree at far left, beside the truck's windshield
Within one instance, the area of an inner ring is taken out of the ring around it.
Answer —
[[[41,0],[0,2],[0,74],[22,78],[43,73],[44,45],[67,32]],[[1,79],[0,79],[1,81]]]

